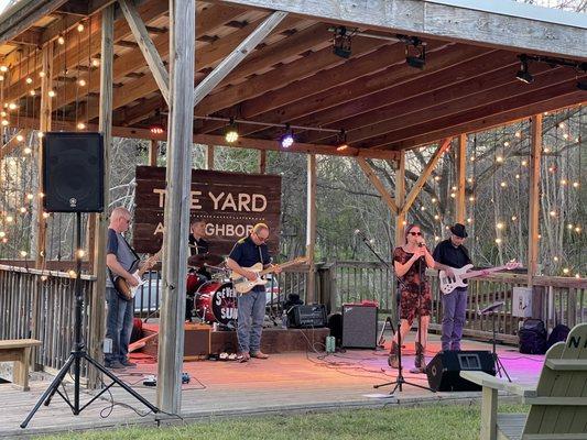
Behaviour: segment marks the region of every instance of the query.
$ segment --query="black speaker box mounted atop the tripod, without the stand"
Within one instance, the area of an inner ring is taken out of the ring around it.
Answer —
[[[102,212],[101,133],[45,133],[43,188],[43,208],[47,212]]]

